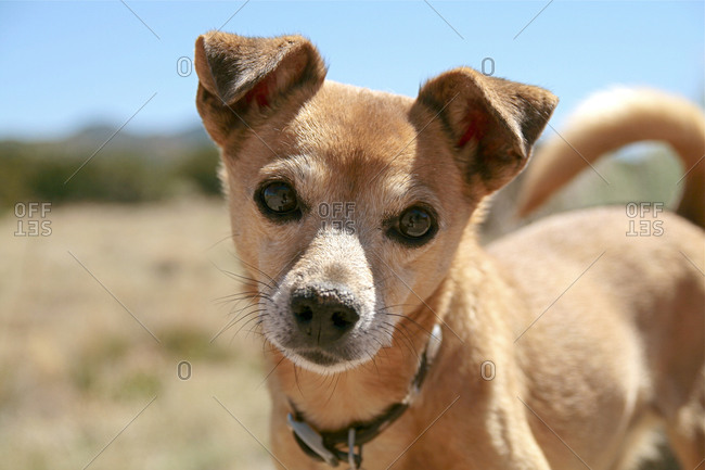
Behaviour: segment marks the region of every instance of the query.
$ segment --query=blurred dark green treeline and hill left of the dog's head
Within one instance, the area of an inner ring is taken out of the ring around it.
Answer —
[[[0,140],[0,208],[20,201],[140,202],[219,193],[218,153],[202,127],[159,135],[116,130],[94,125],[63,139]]]

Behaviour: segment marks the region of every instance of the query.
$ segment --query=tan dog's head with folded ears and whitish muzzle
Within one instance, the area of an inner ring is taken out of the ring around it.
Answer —
[[[471,68],[415,100],[325,81],[298,36],[210,33],[195,59],[264,334],[324,372],[371,359],[428,309],[473,211],[524,167],[556,104]]]

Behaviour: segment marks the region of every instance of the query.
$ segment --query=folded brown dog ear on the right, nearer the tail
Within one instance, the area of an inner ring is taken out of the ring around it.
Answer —
[[[524,168],[557,101],[542,88],[463,67],[428,80],[415,105],[440,118],[466,180],[487,194]]]

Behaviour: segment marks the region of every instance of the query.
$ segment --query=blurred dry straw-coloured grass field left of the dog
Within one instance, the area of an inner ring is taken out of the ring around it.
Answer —
[[[211,341],[233,318],[218,298],[241,289],[218,269],[238,269],[222,203],[47,220],[50,236],[15,237],[0,219],[0,468],[271,468],[236,421],[267,441],[261,342]]]

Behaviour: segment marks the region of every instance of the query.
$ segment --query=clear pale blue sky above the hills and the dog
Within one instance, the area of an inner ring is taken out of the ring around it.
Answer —
[[[445,69],[491,58],[496,76],[554,91],[557,124],[615,84],[704,97],[702,0],[0,1],[0,138],[117,128],[154,93],[126,129],[197,124],[196,76],[180,76],[177,62],[223,24],[243,35],[304,34],[329,78],[408,96]]]

